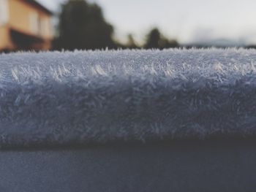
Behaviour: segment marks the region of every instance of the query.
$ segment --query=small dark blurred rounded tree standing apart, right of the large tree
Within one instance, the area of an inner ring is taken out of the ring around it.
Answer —
[[[174,39],[169,40],[165,38],[159,31],[158,28],[153,28],[148,33],[146,37],[146,44],[144,45],[146,49],[164,49],[170,47],[178,47],[178,42]]]

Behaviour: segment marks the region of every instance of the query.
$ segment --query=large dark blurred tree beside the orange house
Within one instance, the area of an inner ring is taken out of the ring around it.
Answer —
[[[56,48],[67,50],[116,47],[113,26],[105,21],[102,9],[85,0],[69,0],[59,16],[59,37]]]

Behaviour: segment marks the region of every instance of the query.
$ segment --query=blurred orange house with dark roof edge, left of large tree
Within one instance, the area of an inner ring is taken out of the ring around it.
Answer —
[[[35,0],[0,0],[0,50],[49,50],[51,16]]]

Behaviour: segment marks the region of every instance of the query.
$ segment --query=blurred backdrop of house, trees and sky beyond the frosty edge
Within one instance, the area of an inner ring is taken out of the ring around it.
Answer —
[[[255,0],[0,0],[0,51],[256,46]]]

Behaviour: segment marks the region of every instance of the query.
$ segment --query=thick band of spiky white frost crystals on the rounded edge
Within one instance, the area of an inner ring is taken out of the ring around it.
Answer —
[[[255,50],[0,55],[1,147],[255,135]]]

